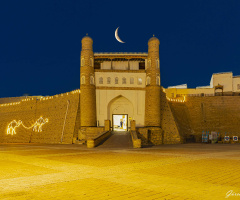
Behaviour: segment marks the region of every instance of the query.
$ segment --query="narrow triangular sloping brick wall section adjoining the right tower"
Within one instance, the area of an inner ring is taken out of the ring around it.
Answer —
[[[164,92],[161,92],[161,127],[163,130],[163,144],[183,142],[183,136],[180,135],[178,124]]]

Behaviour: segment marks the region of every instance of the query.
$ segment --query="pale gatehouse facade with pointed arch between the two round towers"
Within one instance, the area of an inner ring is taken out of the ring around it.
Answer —
[[[111,78],[111,83],[107,83],[107,78]],[[118,84],[115,84],[115,78],[118,78]],[[103,78],[103,83],[99,83],[99,79]],[[126,79],[124,84],[123,78]],[[130,79],[134,79],[134,83],[130,84]],[[144,126],[145,116],[145,86],[146,86],[146,73],[127,73],[121,72],[95,72],[96,84],[96,106],[97,106],[97,120],[99,126],[104,126],[104,120],[109,119],[112,121],[112,113],[109,111],[111,103],[118,97],[125,97],[131,106],[127,113],[128,117],[136,120],[136,126]],[[141,84],[139,84],[141,80]],[[108,88],[109,89],[106,89]],[[116,89],[112,89],[116,88]],[[121,89],[123,88],[123,89]],[[124,89],[129,88],[129,89]],[[138,89],[139,88],[139,89]],[[132,110],[130,112],[130,110]],[[128,123],[130,126],[130,121]]]

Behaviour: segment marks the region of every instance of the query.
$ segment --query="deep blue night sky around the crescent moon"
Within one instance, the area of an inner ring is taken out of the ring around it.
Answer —
[[[86,33],[94,52],[147,52],[155,34],[163,87],[240,75],[239,0],[1,0],[0,19],[0,97],[78,89]]]

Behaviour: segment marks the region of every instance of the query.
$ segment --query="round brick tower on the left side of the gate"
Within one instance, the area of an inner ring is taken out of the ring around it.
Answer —
[[[96,87],[94,78],[93,40],[89,36],[82,39],[80,56],[80,112],[81,127],[96,126]]]

